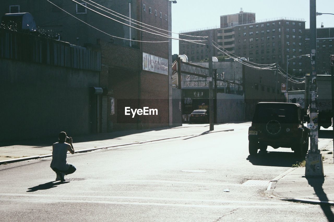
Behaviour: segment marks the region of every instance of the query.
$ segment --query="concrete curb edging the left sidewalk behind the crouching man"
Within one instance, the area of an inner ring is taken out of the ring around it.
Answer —
[[[175,139],[175,138],[187,137],[187,136],[198,136],[198,135],[205,135],[205,134],[209,134],[209,133],[218,133],[218,132],[227,132],[227,131],[234,131],[234,129],[217,130],[217,131],[214,131],[214,132],[204,132],[204,133],[200,133],[200,134],[191,134],[191,135],[184,135],[184,136],[166,137],[166,138],[160,138],[160,139],[155,139],[155,140],[147,140],[147,141],[142,141],[142,142],[118,144],[118,145],[113,145],[113,146],[88,148],[88,149],[75,151],[75,153],[85,153],[85,152],[99,150],[99,149],[108,149],[108,148],[119,147],[119,146],[128,146],[128,145],[133,145],[133,144],[149,143],[149,142],[155,142],[155,141],[160,141],[160,140]],[[8,163],[16,163],[16,162],[21,162],[21,161],[26,161],[26,160],[46,158],[46,157],[51,157],[51,156],[52,156],[52,154],[46,154],[46,155],[40,155],[40,156],[30,156],[30,157],[21,157],[21,158],[15,158],[15,159],[10,159],[10,160],[1,160],[0,165],[8,164]]]

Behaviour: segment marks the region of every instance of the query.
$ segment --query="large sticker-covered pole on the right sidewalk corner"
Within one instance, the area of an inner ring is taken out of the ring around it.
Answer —
[[[324,176],[322,156],[318,149],[318,107],[317,107],[317,26],[316,26],[316,0],[310,0],[310,150],[306,155],[305,176]]]

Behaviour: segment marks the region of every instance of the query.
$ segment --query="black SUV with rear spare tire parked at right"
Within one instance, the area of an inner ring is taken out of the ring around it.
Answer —
[[[305,156],[310,129],[304,126],[302,113],[297,103],[258,103],[248,129],[249,154],[255,155],[258,149],[265,151],[272,146],[274,149],[291,148],[298,156]]]

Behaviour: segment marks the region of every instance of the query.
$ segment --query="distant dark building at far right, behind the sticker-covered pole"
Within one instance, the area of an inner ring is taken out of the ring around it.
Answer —
[[[311,51],[310,48],[310,29],[305,30],[305,50]],[[317,70],[318,74],[330,74],[330,55],[334,55],[334,27],[317,28]]]

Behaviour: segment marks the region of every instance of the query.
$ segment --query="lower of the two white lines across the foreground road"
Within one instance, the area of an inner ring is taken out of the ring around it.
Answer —
[[[0,199],[2,201],[8,201],[8,199]],[[37,202],[37,203],[99,203],[99,204],[127,204],[127,205],[151,205],[151,206],[172,206],[172,207],[199,207],[199,208],[282,208],[282,206],[240,206],[240,205],[197,205],[197,204],[165,204],[165,203],[139,203],[139,202],[116,202],[116,201],[94,201],[94,200],[57,200],[57,199],[45,199],[45,200],[22,200],[11,199],[10,201],[19,202]],[[289,205],[290,207],[308,208],[308,205]]]

